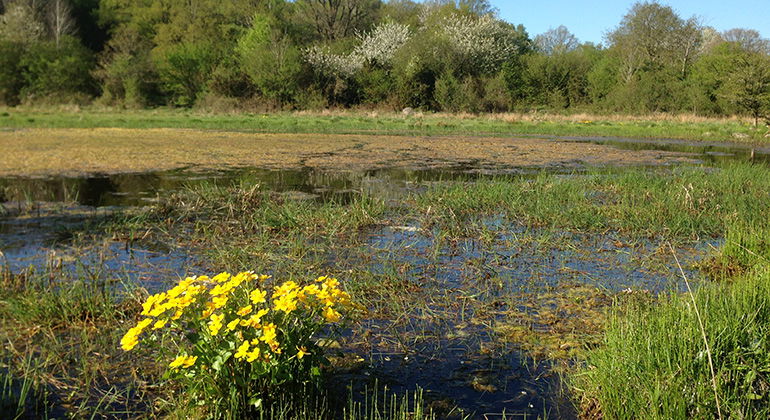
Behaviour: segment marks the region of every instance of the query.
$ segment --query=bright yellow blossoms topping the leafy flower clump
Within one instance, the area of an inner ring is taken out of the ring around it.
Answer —
[[[221,273],[213,278],[188,277],[170,290],[147,298],[142,304],[144,318],[126,332],[121,347],[132,350],[150,326],[152,330],[159,330],[170,325],[181,331],[205,333],[202,337],[211,346],[225,341],[240,343],[233,353],[236,360],[267,362],[274,355],[282,354],[281,341],[288,338],[286,328],[290,322],[297,322],[286,318],[290,314],[291,319],[299,322],[321,325],[339,322],[342,319],[339,310],[355,306],[350,295],[340,289],[339,281],[331,277],[319,277],[304,287],[286,281],[273,288],[268,301],[267,290],[260,289],[268,279],[269,276],[252,272]],[[301,342],[286,342],[292,345],[289,343]],[[235,347],[231,346],[229,348]],[[302,359],[309,354],[306,347],[295,347],[296,353],[292,350],[288,356],[293,353]],[[181,355],[169,367],[188,368],[195,365],[196,360],[197,356]]]

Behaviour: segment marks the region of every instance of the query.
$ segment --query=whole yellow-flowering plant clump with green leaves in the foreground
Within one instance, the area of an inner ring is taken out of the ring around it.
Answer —
[[[359,305],[335,278],[278,285],[242,272],[188,277],[150,296],[142,309],[120,342],[123,350],[157,346],[192,405],[211,417],[237,418],[317,383],[328,363],[319,343],[331,342]],[[325,340],[318,340],[321,332]]]

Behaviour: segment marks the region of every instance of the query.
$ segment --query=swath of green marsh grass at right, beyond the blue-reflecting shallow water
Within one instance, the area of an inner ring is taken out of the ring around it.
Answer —
[[[461,233],[479,216],[528,225],[668,238],[720,236],[731,223],[770,220],[770,168],[593,170],[452,183],[416,197],[426,224]]]

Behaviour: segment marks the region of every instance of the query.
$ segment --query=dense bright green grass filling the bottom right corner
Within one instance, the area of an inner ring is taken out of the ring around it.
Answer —
[[[764,244],[752,250],[728,242],[723,249],[723,257],[751,267],[744,274],[694,295],[616,310],[603,345],[572,377],[587,418],[770,415],[768,231],[738,229],[728,238]]]

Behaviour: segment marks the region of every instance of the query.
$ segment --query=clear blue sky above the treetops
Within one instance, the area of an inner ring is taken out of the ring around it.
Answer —
[[[523,24],[530,37],[566,26],[581,42],[603,42],[606,31],[620,23],[631,0],[599,1],[510,1],[490,0],[504,20]],[[770,37],[770,0],[680,0],[660,1],[671,6],[679,16],[698,16],[703,24],[718,31],[732,28],[756,29]]]

